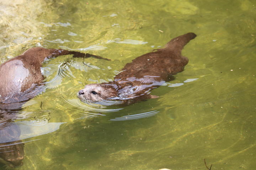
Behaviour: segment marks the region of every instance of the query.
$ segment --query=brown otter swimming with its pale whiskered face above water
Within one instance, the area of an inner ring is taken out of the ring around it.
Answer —
[[[194,33],[178,36],[168,42],[164,49],[157,49],[127,63],[114,81],[89,84],[78,92],[81,101],[122,100],[127,104],[157,98],[150,91],[182,72],[188,58],[181,55],[183,47],[196,37]]]

